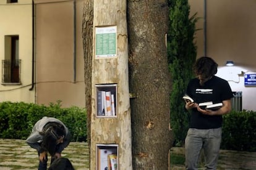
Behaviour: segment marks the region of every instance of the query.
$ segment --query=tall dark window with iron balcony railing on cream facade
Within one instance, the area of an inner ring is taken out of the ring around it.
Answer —
[[[19,36],[5,36],[2,83],[20,83]]]

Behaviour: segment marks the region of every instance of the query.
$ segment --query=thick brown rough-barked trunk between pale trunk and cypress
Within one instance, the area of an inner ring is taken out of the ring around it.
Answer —
[[[128,0],[129,87],[134,169],[168,169],[173,137],[169,131],[166,33],[168,1]]]

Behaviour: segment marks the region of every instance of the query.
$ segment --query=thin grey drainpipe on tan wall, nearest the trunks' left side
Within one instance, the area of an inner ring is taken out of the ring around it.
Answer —
[[[73,17],[74,17],[74,19],[73,19],[73,21],[74,21],[74,57],[73,57],[73,62],[74,62],[74,66],[73,66],[73,68],[74,68],[74,83],[75,83],[75,81],[76,81],[76,78],[77,78],[77,65],[76,65],[76,63],[77,63],[77,26],[76,26],[76,22],[77,22],[77,16],[76,16],[76,2],[74,1],[74,4],[73,4],[73,7],[74,7],[74,15],[73,15]]]

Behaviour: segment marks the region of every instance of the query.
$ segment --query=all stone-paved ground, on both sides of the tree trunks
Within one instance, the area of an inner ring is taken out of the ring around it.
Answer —
[[[184,148],[172,148],[171,152],[184,155]],[[62,156],[69,158],[76,170],[89,169],[88,145],[85,142],[71,142],[62,152]],[[0,170],[32,170],[37,168],[37,153],[25,143],[25,140],[0,139]],[[171,170],[177,169],[185,169],[184,164],[171,165]],[[218,161],[218,170],[222,169],[255,170],[256,152],[221,150]]]

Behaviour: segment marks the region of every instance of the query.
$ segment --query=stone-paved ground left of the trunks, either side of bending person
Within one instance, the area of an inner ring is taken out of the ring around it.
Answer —
[[[71,142],[62,152],[62,157],[69,158],[76,170],[88,168],[88,145],[85,142]],[[32,170],[38,168],[38,155],[25,140],[0,139],[1,170]]]

